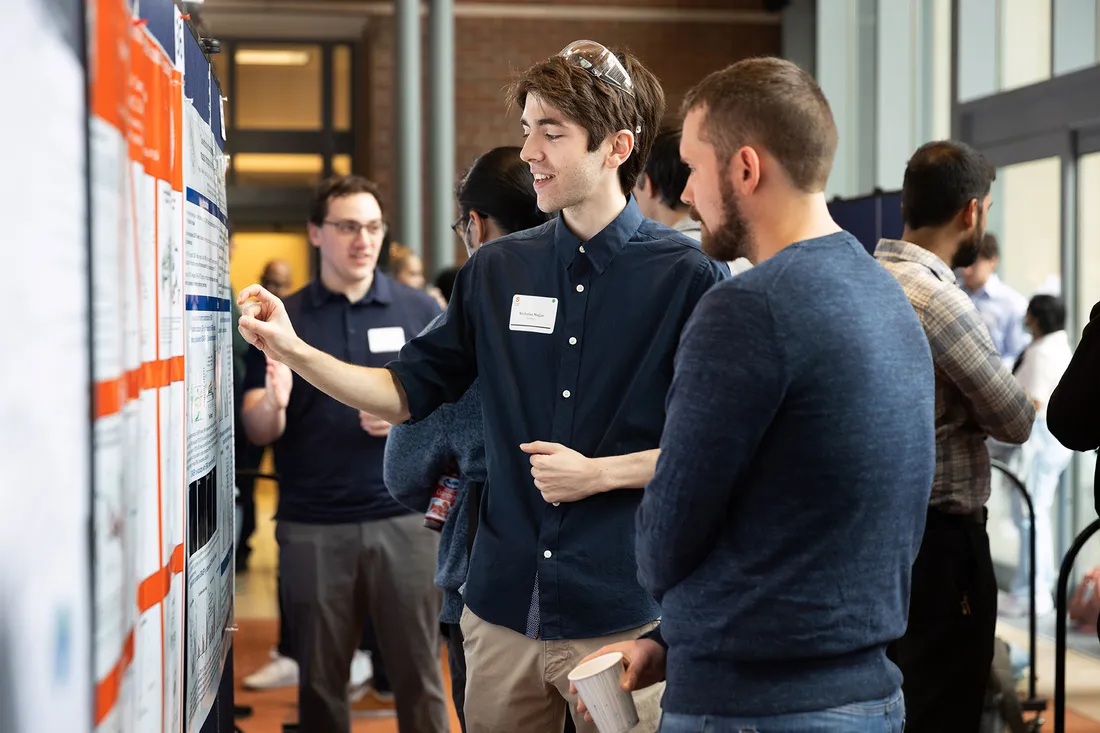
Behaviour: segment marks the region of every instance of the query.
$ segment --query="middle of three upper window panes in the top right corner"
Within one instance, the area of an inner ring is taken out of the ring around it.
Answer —
[[[1001,89],[1050,78],[1050,3],[1001,2]]]

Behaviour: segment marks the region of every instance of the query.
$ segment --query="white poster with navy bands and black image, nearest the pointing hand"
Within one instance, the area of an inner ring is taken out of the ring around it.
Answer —
[[[224,153],[185,100],[187,730],[218,692],[233,609],[233,406]]]

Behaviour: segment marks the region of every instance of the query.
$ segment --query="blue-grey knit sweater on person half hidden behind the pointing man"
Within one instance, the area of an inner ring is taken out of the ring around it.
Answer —
[[[470,481],[485,481],[481,389],[476,381],[457,403],[442,405],[422,420],[391,429],[383,479],[399,503],[426,512],[436,482],[451,459],[458,461],[461,481],[439,538],[436,568],[436,584],[443,591],[439,620],[444,624],[457,624],[462,617],[459,589],[466,581],[466,486]]]

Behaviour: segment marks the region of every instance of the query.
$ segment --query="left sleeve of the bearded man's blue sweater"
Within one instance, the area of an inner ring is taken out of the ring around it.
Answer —
[[[703,296],[676,351],[661,455],[638,510],[638,575],[658,603],[714,547],[785,380],[767,296],[736,280]]]

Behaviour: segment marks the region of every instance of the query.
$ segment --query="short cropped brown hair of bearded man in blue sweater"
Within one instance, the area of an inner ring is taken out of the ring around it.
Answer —
[[[781,58],[746,58],[688,92],[683,114],[702,107],[704,139],[719,161],[744,145],[771,153],[805,193],[825,189],[836,156],[836,122],[813,77]]]

